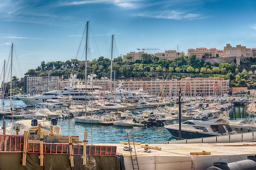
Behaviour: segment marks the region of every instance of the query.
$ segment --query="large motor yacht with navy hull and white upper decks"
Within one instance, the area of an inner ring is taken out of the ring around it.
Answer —
[[[181,138],[193,139],[236,134],[229,126],[229,117],[221,110],[200,110],[193,119],[181,124]],[[172,137],[179,138],[179,124],[165,125]]]

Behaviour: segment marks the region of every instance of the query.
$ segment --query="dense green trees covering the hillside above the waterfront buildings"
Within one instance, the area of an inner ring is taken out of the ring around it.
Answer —
[[[127,61],[121,56],[113,59],[112,78],[117,79],[157,77],[163,79],[183,77],[223,77],[230,79],[230,86],[248,86],[256,88],[256,60],[255,57],[248,63],[237,66],[234,62],[211,65],[204,60],[197,60],[195,55],[181,56],[175,60],[162,60],[150,54],[143,54],[143,60],[131,62],[132,56],[127,56]],[[66,62],[41,62],[36,69],[30,69],[25,76],[59,76],[68,78],[76,74],[77,78],[85,78],[85,61],[67,60]],[[87,74],[95,73],[97,78],[110,77],[111,61],[108,58],[99,57],[88,61]],[[114,73],[115,72],[115,73]]]

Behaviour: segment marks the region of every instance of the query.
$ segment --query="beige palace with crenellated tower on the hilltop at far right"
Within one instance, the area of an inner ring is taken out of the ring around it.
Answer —
[[[232,47],[227,44],[224,46],[224,57],[252,57],[252,51],[246,46],[236,45],[236,47]]]

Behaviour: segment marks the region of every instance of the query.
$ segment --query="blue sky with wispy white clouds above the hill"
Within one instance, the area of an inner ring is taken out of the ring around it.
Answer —
[[[255,16],[254,0],[0,0],[0,68],[11,43],[19,78],[42,61],[85,60],[77,53],[87,21],[90,61],[110,58],[112,34],[114,58],[142,48],[255,48]]]

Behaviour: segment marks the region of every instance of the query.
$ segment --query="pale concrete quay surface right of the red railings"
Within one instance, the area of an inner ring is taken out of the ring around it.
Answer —
[[[124,156],[126,170],[132,170],[126,144],[99,144],[117,146],[117,152]],[[150,149],[143,152],[146,144],[135,145],[139,170],[207,170],[215,162],[236,162],[256,155],[256,142],[209,143],[209,144],[148,144],[161,150]],[[132,154],[134,153],[133,144]],[[198,154],[198,155],[193,155]],[[209,154],[209,155],[201,155]]]

